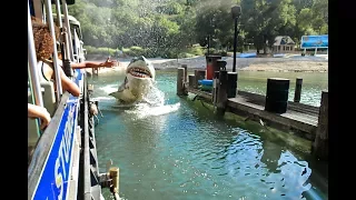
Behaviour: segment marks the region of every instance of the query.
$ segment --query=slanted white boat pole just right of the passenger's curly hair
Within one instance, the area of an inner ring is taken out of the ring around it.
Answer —
[[[62,94],[62,84],[59,73],[58,66],[58,54],[57,54],[57,43],[56,43],[56,34],[55,34],[55,24],[53,24],[53,16],[52,16],[52,7],[51,1],[46,0],[46,13],[47,13],[47,23],[49,24],[49,29],[51,31],[51,36],[53,38],[53,67],[55,67],[55,76],[56,76],[56,86],[57,86],[57,103],[60,102],[60,97]]]

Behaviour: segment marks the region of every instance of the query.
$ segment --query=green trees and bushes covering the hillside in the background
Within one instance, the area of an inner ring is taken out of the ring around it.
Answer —
[[[177,58],[198,56],[206,48],[226,53],[234,44],[231,6],[239,3],[238,49],[254,43],[270,47],[276,36],[296,42],[305,34],[328,33],[327,0],[76,0],[69,14],[82,29],[88,53],[112,53],[123,47],[129,56]],[[179,52],[179,53],[178,53]]]

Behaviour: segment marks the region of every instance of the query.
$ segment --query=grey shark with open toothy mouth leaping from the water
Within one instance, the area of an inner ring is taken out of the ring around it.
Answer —
[[[154,66],[145,57],[134,58],[126,69],[125,81],[118,91],[109,93],[123,103],[140,101],[149,92],[155,81]]]

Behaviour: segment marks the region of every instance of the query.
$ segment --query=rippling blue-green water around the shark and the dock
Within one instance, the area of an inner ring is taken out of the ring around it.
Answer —
[[[263,93],[261,74],[239,73],[239,87]],[[325,74],[315,77],[304,77],[303,100],[312,104],[319,101],[313,92],[327,87]],[[176,72],[157,71],[164,104],[156,107],[122,107],[108,97],[122,80],[115,72],[89,81],[103,114],[96,127],[100,172],[109,159],[120,168],[121,198],[327,199],[327,164],[258,123],[217,118],[201,102],[178,98]]]

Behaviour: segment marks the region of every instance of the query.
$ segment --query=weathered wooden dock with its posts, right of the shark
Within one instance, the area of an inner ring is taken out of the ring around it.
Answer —
[[[284,113],[267,111],[265,108],[266,97],[257,93],[238,90],[234,98],[227,98],[227,81],[217,80],[212,92],[198,89],[197,77],[201,80],[204,71],[195,71],[195,74],[187,73],[184,68],[178,68],[177,74],[177,94],[186,96],[188,92],[196,94],[200,100],[211,103],[215,108],[247,117],[261,122],[264,126],[274,127],[281,130],[293,131],[296,136],[313,141],[312,153],[320,159],[327,160],[328,157],[328,121],[327,121],[327,91],[322,92],[320,107],[300,103],[300,91],[296,91],[295,100],[288,101],[287,110]],[[221,72],[221,71],[220,71]],[[225,74],[227,72],[225,71]],[[220,76],[220,78],[224,76]],[[225,76],[226,77],[226,76]],[[299,79],[300,80],[300,79]],[[216,81],[216,80],[214,80]],[[298,81],[301,84],[301,81]],[[297,83],[297,84],[298,84]],[[301,89],[301,86],[299,86]],[[222,92],[222,94],[221,94]],[[215,94],[214,94],[215,93]],[[216,96],[216,97],[214,97]]]

